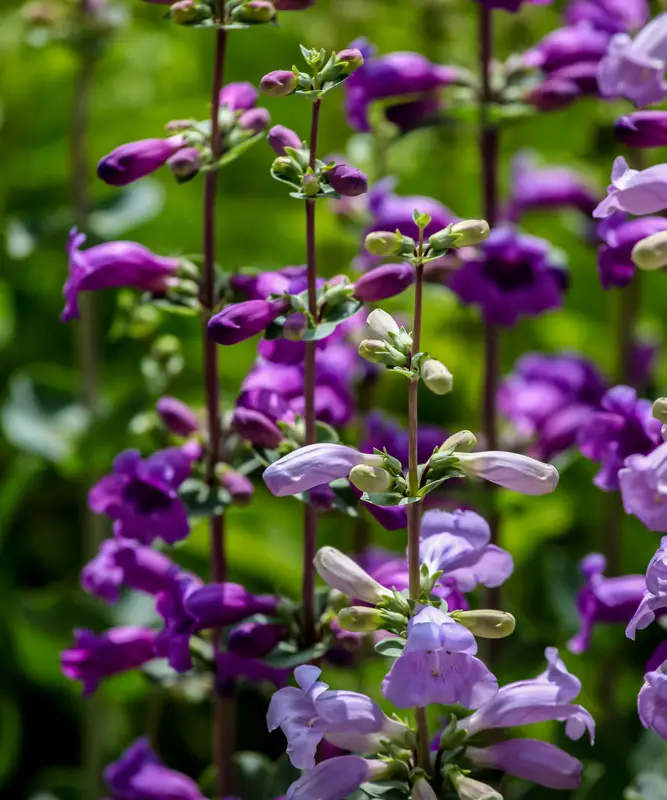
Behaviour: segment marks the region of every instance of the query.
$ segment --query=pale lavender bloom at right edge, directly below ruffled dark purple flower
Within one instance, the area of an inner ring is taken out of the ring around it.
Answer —
[[[650,531],[667,533],[667,442],[647,456],[626,458],[618,482],[625,513]]]

